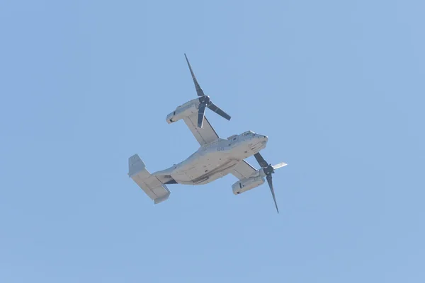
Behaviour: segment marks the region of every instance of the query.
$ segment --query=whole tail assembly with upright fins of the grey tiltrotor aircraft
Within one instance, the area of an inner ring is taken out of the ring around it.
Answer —
[[[164,202],[169,198],[171,192],[168,187],[146,170],[145,163],[137,154],[128,158],[128,176],[139,185],[146,195],[154,200],[154,204],[159,204],[159,202]]]

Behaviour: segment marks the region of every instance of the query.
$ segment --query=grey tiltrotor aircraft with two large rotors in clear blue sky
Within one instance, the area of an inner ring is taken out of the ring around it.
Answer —
[[[128,175],[154,200],[155,204],[169,198],[170,191],[166,187],[169,184],[203,185],[231,173],[239,179],[232,185],[234,195],[238,195],[262,185],[266,178],[276,210],[279,212],[271,174],[275,169],[287,164],[279,163],[272,166],[264,160],[259,151],[266,147],[268,137],[263,134],[247,131],[242,134],[234,134],[227,139],[218,137],[205,117],[205,108],[209,108],[227,120],[230,120],[230,116],[212,103],[209,96],[205,96],[187,57],[186,62],[199,97],[178,106],[166,117],[166,122],[171,124],[183,119],[199,142],[199,149],[185,161],[152,174],[147,171],[145,163],[135,154],[128,159]],[[245,158],[252,155],[261,166],[259,170],[244,161]]]

